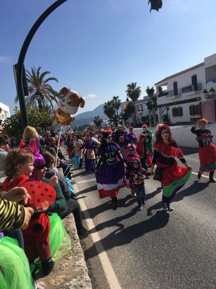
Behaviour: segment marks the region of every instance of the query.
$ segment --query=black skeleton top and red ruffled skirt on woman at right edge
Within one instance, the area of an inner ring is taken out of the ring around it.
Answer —
[[[210,130],[196,130],[195,127],[191,128],[191,132],[197,136],[199,142],[199,158],[200,158],[200,173],[204,171],[216,170],[216,146],[212,142],[213,135]]]

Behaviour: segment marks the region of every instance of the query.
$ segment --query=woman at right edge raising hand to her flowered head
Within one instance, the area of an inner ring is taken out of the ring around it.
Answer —
[[[198,179],[201,178],[201,174],[204,171],[209,172],[210,183],[215,183],[213,178],[216,170],[216,146],[212,142],[213,135],[211,131],[206,129],[207,119],[199,119],[191,128],[191,133],[197,136],[199,142],[199,158],[200,158],[200,170],[198,173]],[[196,130],[196,127],[200,125],[200,128]]]

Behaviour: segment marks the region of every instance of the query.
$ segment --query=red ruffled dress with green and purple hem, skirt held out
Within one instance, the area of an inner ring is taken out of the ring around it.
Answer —
[[[171,142],[169,145],[163,141],[155,142],[153,148],[153,164],[156,164],[159,168],[165,169],[161,181],[163,186],[162,200],[169,203],[189,180],[192,170],[178,165],[176,159],[180,159],[182,163],[185,163],[186,161],[182,150],[175,141]]]

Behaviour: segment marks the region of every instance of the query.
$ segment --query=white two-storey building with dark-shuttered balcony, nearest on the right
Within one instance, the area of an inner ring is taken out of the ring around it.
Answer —
[[[163,115],[167,115],[169,123],[195,123],[201,117],[201,102],[207,98],[215,99],[216,54],[206,57],[198,65],[166,77],[155,86],[159,122],[163,121]],[[163,92],[159,91],[160,87]],[[207,93],[203,93],[204,89]]]

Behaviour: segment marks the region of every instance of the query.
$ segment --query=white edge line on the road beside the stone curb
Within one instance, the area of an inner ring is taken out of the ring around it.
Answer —
[[[73,187],[74,187],[75,191],[78,193],[79,190],[78,190],[77,184],[73,185]],[[93,220],[91,219],[89,211],[87,210],[87,207],[86,207],[84,200],[79,199],[78,202],[80,204],[81,210],[85,211],[85,218],[86,218],[86,223],[87,223],[88,229],[89,230],[94,229],[95,225],[93,223]],[[91,234],[91,237],[93,239],[94,246],[97,250],[98,257],[100,258],[101,265],[102,265],[103,270],[105,272],[105,276],[107,278],[109,288],[110,289],[121,289],[119,281],[116,277],[115,272],[112,269],[112,265],[109,261],[109,258],[108,258],[108,255],[107,255],[105,249],[104,249],[104,246],[102,245],[102,242],[100,240],[99,235],[97,234],[97,232],[94,232]]]

